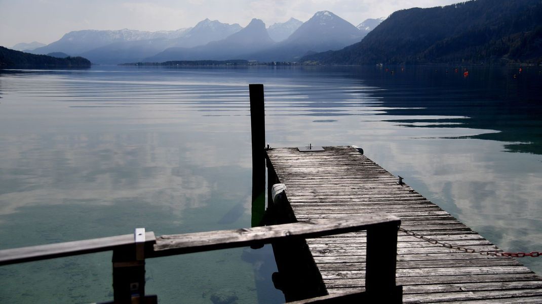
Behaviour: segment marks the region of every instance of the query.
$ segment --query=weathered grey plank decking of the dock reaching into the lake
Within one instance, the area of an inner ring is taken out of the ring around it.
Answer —
[[[501,251],[350,146],[322,152],[267,151],[270,179],[285,184],[298,221],[386,212],[401,228],[477,251]],[[307,239],[329,294],[365,284],[366,234]],[[398,232],[398,285],[403,302],[542,303],[542,278],[513,258],[465,253]]]

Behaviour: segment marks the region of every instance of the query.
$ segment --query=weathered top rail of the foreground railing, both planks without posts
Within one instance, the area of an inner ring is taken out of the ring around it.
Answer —
[[[316,238],[365,230],[368,227],[374,229],[390,227],[390,225],[398,227],[400,224],[401,220],[393,215],[372,213],[339,219],[320,219],[254,228],[162,235],[158,238],[154,237],[153,232],[146,232],[145,258],[269,244],[288,238]],[[134,235],[125,234],[99,239],[4,249],[0,251],[0,266],[111,251],[134,244]]]

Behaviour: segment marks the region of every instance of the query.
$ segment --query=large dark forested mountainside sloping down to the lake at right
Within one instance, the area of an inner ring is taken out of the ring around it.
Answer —
[[[542,2],[477,0],[392,13],[362,42],[301,60],[325,64],[542,60]]]

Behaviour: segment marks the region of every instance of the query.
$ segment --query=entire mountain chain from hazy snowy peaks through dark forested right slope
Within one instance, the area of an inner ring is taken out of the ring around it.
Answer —
[[[268,28],[205,19],[192,28],[145,32],[74,31],[33,53],[119,64],[243,59],[308,64],[542,62],[541,0],[473,0],[399,10],[358,26],[330,11]],[[18,45],[18,48],[34,47]]]

